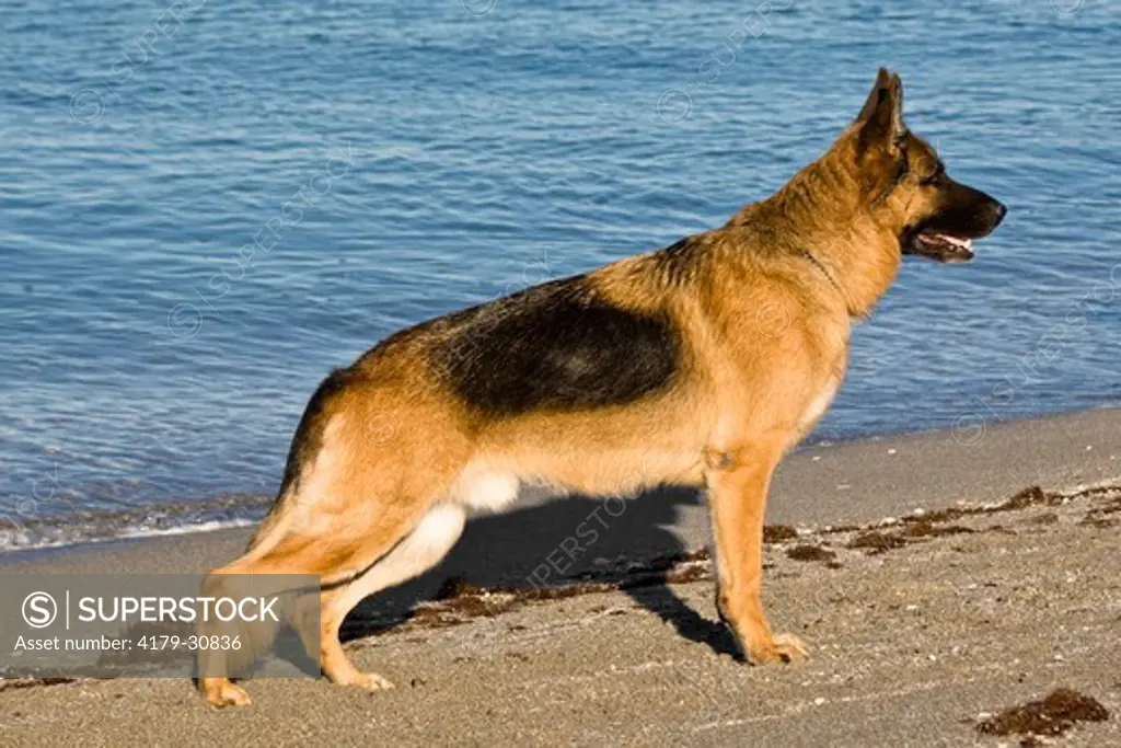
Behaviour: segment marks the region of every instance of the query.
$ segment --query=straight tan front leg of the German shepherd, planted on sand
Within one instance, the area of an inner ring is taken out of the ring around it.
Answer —
[[[806,656],[797,637],[771,632],[760,597],[767,491],[784,449],[785,443],[756,443],[706,454],[719,574],[716,606],[741,650],[756,664]]]

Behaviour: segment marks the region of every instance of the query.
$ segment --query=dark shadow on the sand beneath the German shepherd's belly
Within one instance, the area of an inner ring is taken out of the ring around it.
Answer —
[[[476,517],[463,537],[432,571],[397,588],[367,598],[348,617],[344,641],[395,629],[418,603],[438,599],[450,580],[481,588],[571,587],[596,581],[619,582],[636,603],[674,626],[692,641],[717,654],[739,656],[734,639],[720,621],[697,613],[666,584],[651,562],[682,555],[688,548],[673,527],[704,519],[704,498],[695,489],[664,487],[632,499],[567,497],[545,499],[531,490],[508,514]],[[594,539],[593,533],[594,530]]]

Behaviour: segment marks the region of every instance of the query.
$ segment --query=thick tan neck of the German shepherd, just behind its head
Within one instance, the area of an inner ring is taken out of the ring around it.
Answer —
[[[781,190],[736,213],[730,227],[767,227],[765,246],[812,258],[844,299],[850,316],[867,316],[899,271],[898,229],[873,212],[865,185],[850,164],[844,137]]]

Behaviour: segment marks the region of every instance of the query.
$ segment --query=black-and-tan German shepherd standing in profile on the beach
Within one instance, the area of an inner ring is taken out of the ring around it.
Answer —
[[[689,484],[707,492],[717,606],[742,654],[805,657],[760,601],[771,474],[828,407],[850,329],[901,256],[966,261],[1004,212],[907,129],[899,76],[881,68],[828,151],[723,227],[425,322],[334,371],[271,512],[209,580],[318,575],[309,654],[335,683],[386,689],[346,658],[340,625],[434,566],[470,514],[501,510],[522,482]],[[249,702],[226,677],[198,686],[214,705]]]

